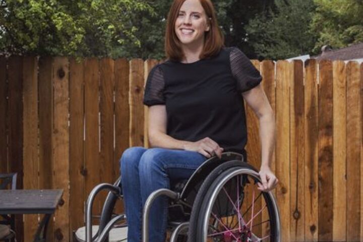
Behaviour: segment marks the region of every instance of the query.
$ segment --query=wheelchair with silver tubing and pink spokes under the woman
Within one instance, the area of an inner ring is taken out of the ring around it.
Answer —
[[[271,192],[257,189],[261,181],[258,170],[245,160],[244,155],[224,152],[221,159],[207,159],[188,180],[171,184],[170,190],[154,191],[144,205],[142,241],[149,241],[153,201],[167,196],[170,242],[280,242],[275,198]],[[92,204],[101,190],[109,193],[96,227],[91,224]],[[120,178],[113,185],[100,184],[92,190],[86,203],[85,240],[79,241],[127,241],[126,215],[113,213],[119,199],[123,199]]]

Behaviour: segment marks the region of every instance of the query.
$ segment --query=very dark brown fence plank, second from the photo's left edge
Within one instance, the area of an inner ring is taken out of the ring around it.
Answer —
[[[8,170],[18,172],[17,188],[23,188],[23,102],[22,102],[22,71],[21,56],[9,57],[8,69]],[[15,216],[17,240],[23,241],[23,216]]]

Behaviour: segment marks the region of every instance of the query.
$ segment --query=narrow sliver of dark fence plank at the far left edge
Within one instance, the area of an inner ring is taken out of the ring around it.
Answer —
[[[7,134],[7,59],[0,57],[0,173],[8,172],[8,134]]]

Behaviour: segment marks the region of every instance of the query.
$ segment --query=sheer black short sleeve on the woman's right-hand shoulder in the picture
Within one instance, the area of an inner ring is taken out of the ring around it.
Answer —
[[[232,75],[237,81],[237,88],[240,92],[246,92],[261,83],[260,72],[237,47],[230,48],[229,61]]]

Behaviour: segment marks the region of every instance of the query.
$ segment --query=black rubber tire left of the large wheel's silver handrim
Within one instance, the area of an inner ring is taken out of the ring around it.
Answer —
[[[201,242],[200,240],[196,239],[196,233],[197,233],[197,223],[198,223],[199,213],[203,203],[203,199],[206,196],[209,188],[211,187],[215,179],[222,172],[232,167],[248,167],[250,169],[257,171],[252,165],[248,164],[247,162],[240,160],[231,160],[219,165],[207,176],[207,178],[203,181],[203,184],[200,187],[196,199],[194,200],[193,203],[191,218],[189,221],[190,225],[188,230],[188,242]]]

